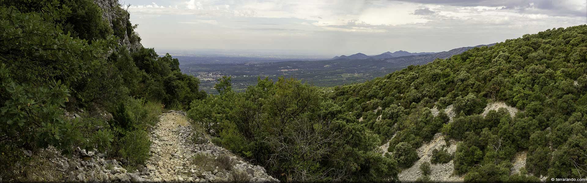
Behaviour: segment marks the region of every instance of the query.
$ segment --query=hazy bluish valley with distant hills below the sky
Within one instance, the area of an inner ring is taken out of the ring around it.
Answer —
[[[248,86],[257,83],[257,79],[268,77],[293,77],[319,87],[332,87],[350,83],[360,83],[384,76],[410,65],[424,65],[434,59],[446,59],[450,56],[477,48],[478,45],[463,47],[438,53],[398,53],[394,57],[352,59],[335,57],[330,60],[271,60],[251,57],[195,57],[175,56],[180,61],[180,69],[200,79],[200,89],[208,93],[217,93],[214,84],[222,76],[231,76],[232,87],[242,92]],[[358,54],[358,53],[357,53]],[[382,55],[386,55],[383,53]],[[407,55],[407,56],[404,56]]]

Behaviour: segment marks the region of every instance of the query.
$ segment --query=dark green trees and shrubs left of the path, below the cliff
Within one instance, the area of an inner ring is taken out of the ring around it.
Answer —
[[[90,0],[0,0],[2,170],[26,161],[21,150],[49,145],[63,153],[96,149],[141,164],[149,157],[146,130],[162,107],[181,109],[205,97],[177,59],[120,45],[140,39],[128,13],[117,12],[107,22]],[[120,19],[127,25],[113,30]]]

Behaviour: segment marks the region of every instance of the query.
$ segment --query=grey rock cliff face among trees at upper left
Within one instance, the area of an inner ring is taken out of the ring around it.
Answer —
[[[120,8],[117,0],[94,0],[102,8],[102,17],[110,23],[114,35],[119,38],[119,45],[126,45],[131,52],[143,47],[139,35],[134,32],[130,23],[130,13]]]

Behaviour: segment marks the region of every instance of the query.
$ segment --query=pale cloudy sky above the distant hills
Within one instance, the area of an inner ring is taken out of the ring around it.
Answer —
[[[587,0],[120,0],[145,47],[441,52],[587,23]],[[130,6],[129,6],[130,4]]]

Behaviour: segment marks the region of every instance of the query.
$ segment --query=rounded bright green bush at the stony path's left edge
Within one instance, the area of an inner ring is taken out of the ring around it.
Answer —
[[[151,140],[146,131],[131,131],[120,140],[120,144],[122,145],[119,151],[120,157],[128,160],[130,166],[144,164],[149,159]]]

